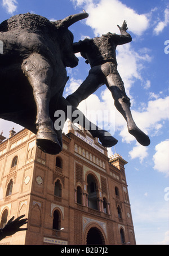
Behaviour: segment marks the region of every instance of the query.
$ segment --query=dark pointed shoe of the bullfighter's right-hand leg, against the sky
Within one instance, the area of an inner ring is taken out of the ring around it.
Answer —
[[[149,136],[147,136],[144,132],[142,132],[138,127],[134,129],[128,129],[128,132],[133,135],[137,142],[141,144],[142,146],[149,146],[150,145],[150,139]]]

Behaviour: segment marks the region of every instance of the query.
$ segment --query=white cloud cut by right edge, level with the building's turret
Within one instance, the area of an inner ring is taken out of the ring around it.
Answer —
[[[155,146],[156,153],[153,155],[154,169],[169,175],[169,140],[162,141]]]

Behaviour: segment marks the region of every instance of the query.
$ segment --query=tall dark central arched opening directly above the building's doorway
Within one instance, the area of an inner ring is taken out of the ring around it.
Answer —
[[[87,176],[88,207],[98,210],[96,182],[94,176]]]

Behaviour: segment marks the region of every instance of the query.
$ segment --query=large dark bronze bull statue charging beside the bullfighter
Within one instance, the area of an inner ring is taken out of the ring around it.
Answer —
[[[69,77],[66,67],[78,65],[70,25],[88,14],[70,15],[54,22],[35,14],[20,14],[0,24],[0,118],[36,134],[37,146],[49,154],[62,149],[61,130],[54,128],[54,112],[70,105],[62,97]],[[74,110],[74,109],[73,109]],[[88,122],[88,121],[87,121]],[[91,123],[89,122],[89,131]],[[104,130],[91,131],[104,146],[117,140]]]

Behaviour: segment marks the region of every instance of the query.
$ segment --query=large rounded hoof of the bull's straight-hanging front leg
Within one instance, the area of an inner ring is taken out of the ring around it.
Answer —
[[[55,132],[43,131],[37,133],[37,146],[43,152],[51,155],[59,154],[62,147]]]

